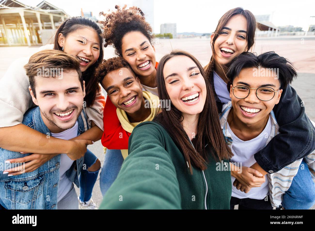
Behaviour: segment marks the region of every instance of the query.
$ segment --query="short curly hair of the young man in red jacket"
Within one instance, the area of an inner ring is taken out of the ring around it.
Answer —
[[[98,81],[101,83],[106,74],[111,71],[121,69],[121,68],[128,68],[132,72],[133,70],[129,66],[129,63],[122,57],[114,57],[109,58],[107,60],[103,60],[100,65],[95,70],[95,76],[98,78]]]

